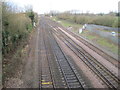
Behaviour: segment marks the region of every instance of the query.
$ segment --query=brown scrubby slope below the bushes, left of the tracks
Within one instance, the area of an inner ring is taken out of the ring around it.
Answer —
[[[20,78],[23,74],[23,68],[31,51],[31,46],[29,44],[32,41],[32,38],[34,38],[34,33],[35,31],[33,30],[30,33],[29,38],[26,41],[21,42],[21,45],[19,45],[13,54],[8,54],[7,57],[4,58],[3,88],[19,88],[22,84]]]

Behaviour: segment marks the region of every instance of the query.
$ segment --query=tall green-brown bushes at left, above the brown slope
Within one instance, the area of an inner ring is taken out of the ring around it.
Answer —
[[[7,3],[3,3],[2,7],[2,53],[5,55],[26,40],[32,24],[26,13],[16,13]]]

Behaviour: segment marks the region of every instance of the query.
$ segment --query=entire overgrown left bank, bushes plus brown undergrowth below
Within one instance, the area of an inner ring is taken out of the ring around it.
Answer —
[[[2,4],[2,64],[3,84],[7,78],[13,77],[24,64],[23,51],[29,37],[34,31],[33,21],[37,14],[31,9],[19,12],[9,3]]]

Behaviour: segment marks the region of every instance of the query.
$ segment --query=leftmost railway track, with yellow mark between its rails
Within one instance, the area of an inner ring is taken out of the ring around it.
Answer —
[[[54,88],[43,28],[40,29],[39,87]]]

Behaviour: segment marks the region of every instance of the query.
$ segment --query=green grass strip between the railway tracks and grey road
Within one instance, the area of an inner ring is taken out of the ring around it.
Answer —
[[[69,22],[69,21],[66,21],[66,20],[60,20],[56,17],[52,17],[53,20],[55,21],[59,21],[63,26],[65,27],[68,27],[68,26],[71,26],[73,27],[72,31],[77,33],[78,34],[78,30],[79,28],[82,27],[82,25],[80,24],[76,24],[76,23],[73,23],[73,22]],[[77,28],[74,28],[74,27],[77,27]],[[111,41],[109,41],[108,39],[106,38],[103,38],[99,35],[96,35],[95,33],[91,33],[90,31],[83,31],[81,34],[79,34],[80,36],[94,42],[95,44],[99,45],[100,47],[106,49],[107,51],[110,51],[112,52],[113,54],[118,54],[118,45],[112,43]],[[119,53],[120,55],[120,53]]]

